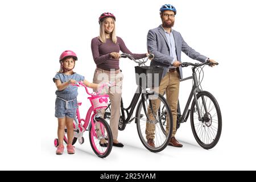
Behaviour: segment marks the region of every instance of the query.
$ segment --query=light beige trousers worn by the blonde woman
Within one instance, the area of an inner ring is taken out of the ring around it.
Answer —
[[[103,82],[115,82],[115,86],[109,89],[109,99],[111,102],[111,116],[110,116],[110,129],[112,130],[113,140],[117,140],[118,137],[118,123],[120,118],[120,107],[122,97],[122,80],[123,74],[121,71],[105,71],[104,69],[96,68],[93,76],[93,82],[100,84]],[[101,111],[102,117],[104,117],[105,110]]]

